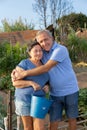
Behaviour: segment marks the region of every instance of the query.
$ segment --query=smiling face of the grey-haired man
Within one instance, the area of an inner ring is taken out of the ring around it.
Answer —
[[[50,51],[53,45],[53,38],[47,35],[46,33],[42,33],[39,36],[37,36],[37,41],[45,51]]]

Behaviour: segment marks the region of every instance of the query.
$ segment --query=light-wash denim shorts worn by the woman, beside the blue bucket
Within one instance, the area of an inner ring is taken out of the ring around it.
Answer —
[[[30,115],[30,103],[15,99],[15,113],[19,116]]]

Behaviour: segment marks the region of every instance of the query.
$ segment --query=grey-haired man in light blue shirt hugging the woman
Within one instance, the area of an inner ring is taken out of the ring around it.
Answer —
[[[72,68],[67,48],[56,43],[47,30],[39,31],[36,40],[43,48],[44,65],[32,70],[12,72],[14,80],[49,72],[50,98],[54,100],[50,109],[50,130],[57,130],[62,119],[63,108],[69,121],[69,130],[76,130],[78,116],[78,83]]]

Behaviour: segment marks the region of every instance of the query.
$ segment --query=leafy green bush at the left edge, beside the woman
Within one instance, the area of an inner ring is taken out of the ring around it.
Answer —
[[[20,46],[16,44],[12,46],[11,44],[5,42],[0,44],[0,89],[1,90],[12,90],[14,87],[11,83],[10,74],[12,70],[16,67],[20,60],[27,57],[26,45]]]

